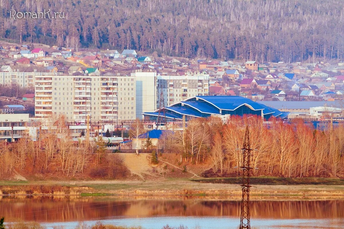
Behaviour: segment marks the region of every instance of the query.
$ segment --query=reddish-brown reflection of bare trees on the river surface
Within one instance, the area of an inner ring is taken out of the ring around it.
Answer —
[[[114,198],[6,199],[0,215],[8,220],[78,221],[113,217],[239,216],[239,201],[201,199],[151,200]],[[252,218],[339,218],[344,217],[344,201],[252,201]]]

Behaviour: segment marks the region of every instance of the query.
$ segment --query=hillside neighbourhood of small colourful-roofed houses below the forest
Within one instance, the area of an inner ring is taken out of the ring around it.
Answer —
[[[207,58],[141,56],[133,49],[92,52],[56,46],[31,49],[26,45],[10,48],[2,46],[1,54],[9,59],[4,58],[5,65],[1,67],[0,83],[17,83],[23,87],[33,87],[32,77],[46,74],[101,76],[113,73],[123,76],[135,71],[146,71],[156,72],[160,76],[190,79],[194,75],[208,75],[209,95],[241,95],[255,100],[332,100],[340,99],[343,91],[343,62],[330,64],[321,61],[220,61]],[[33,71],[23,72],[23,66],[33,67]],[[293,90],[293,85],[299,84],[301,89]],[[303,84],[311,88],[305,88]],[[275,90],[282,92],[270,93]],[[183,97],[186,97],[186,93],[183,93]]]

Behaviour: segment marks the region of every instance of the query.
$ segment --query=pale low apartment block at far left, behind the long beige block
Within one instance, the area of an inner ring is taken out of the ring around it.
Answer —
[[[1,85],[19,85],[20,87],[34,87],[35,77],[51,76],[51,72],[0,72]]]

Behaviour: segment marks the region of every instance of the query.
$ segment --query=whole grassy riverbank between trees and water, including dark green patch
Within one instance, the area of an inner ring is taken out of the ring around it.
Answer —
[[[0,181],[4,195],[241,196],[240,178],[146,181]],[[0,193],[1,194],[1,193]],[[252,178],[251,195],[344,198],[344,181],[325,178]]]

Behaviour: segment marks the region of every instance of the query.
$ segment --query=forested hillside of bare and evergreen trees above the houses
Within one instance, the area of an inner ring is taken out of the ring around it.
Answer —
[[[342,58],[342,0],[0,0],[0,37],[183,57]],[[65,19],[9,18],[65,12]],[[72,41],[73,39],[73,41]]]

